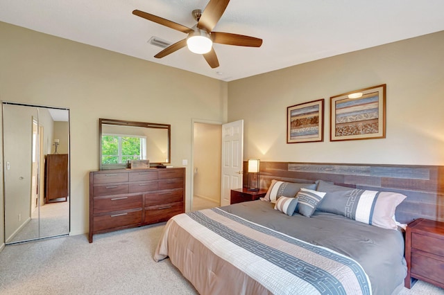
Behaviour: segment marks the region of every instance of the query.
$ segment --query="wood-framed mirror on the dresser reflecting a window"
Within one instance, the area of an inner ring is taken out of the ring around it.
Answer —
[[[99,118],[99,166],[128,167],[130,160],[170,163],[171,125]]]

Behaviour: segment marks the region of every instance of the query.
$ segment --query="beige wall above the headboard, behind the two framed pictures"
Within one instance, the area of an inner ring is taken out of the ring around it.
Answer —
[[[444,165],[444,31],[228,84],[244,159]],[[386,138],[330,142],[330,97],[387,84]],[[323,143],[287,144],[287,107],[325,98]]]

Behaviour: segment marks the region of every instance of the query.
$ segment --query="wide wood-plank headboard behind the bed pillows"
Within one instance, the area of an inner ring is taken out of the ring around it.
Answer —
[[[244,171],[248,171],[246,163]],[[261,188],[268,188],[272,179],[291,182],[321,179],[350,188],[402,193],[407,198],[396,210],[398,222],[409,223],[420,217],[444,222],[444,166],[261,161]],[[247,181],[245,173],[244,184]]]

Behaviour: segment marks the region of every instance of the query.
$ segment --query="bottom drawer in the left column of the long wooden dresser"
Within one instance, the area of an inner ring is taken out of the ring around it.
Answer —
[[[94,216],[94,231],[114,229],[142,222],[142,208]]]

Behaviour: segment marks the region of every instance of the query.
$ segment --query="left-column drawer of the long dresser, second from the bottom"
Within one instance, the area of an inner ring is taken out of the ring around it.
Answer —
[[[94,198],[94,214],[142,208],[142,195]]]

